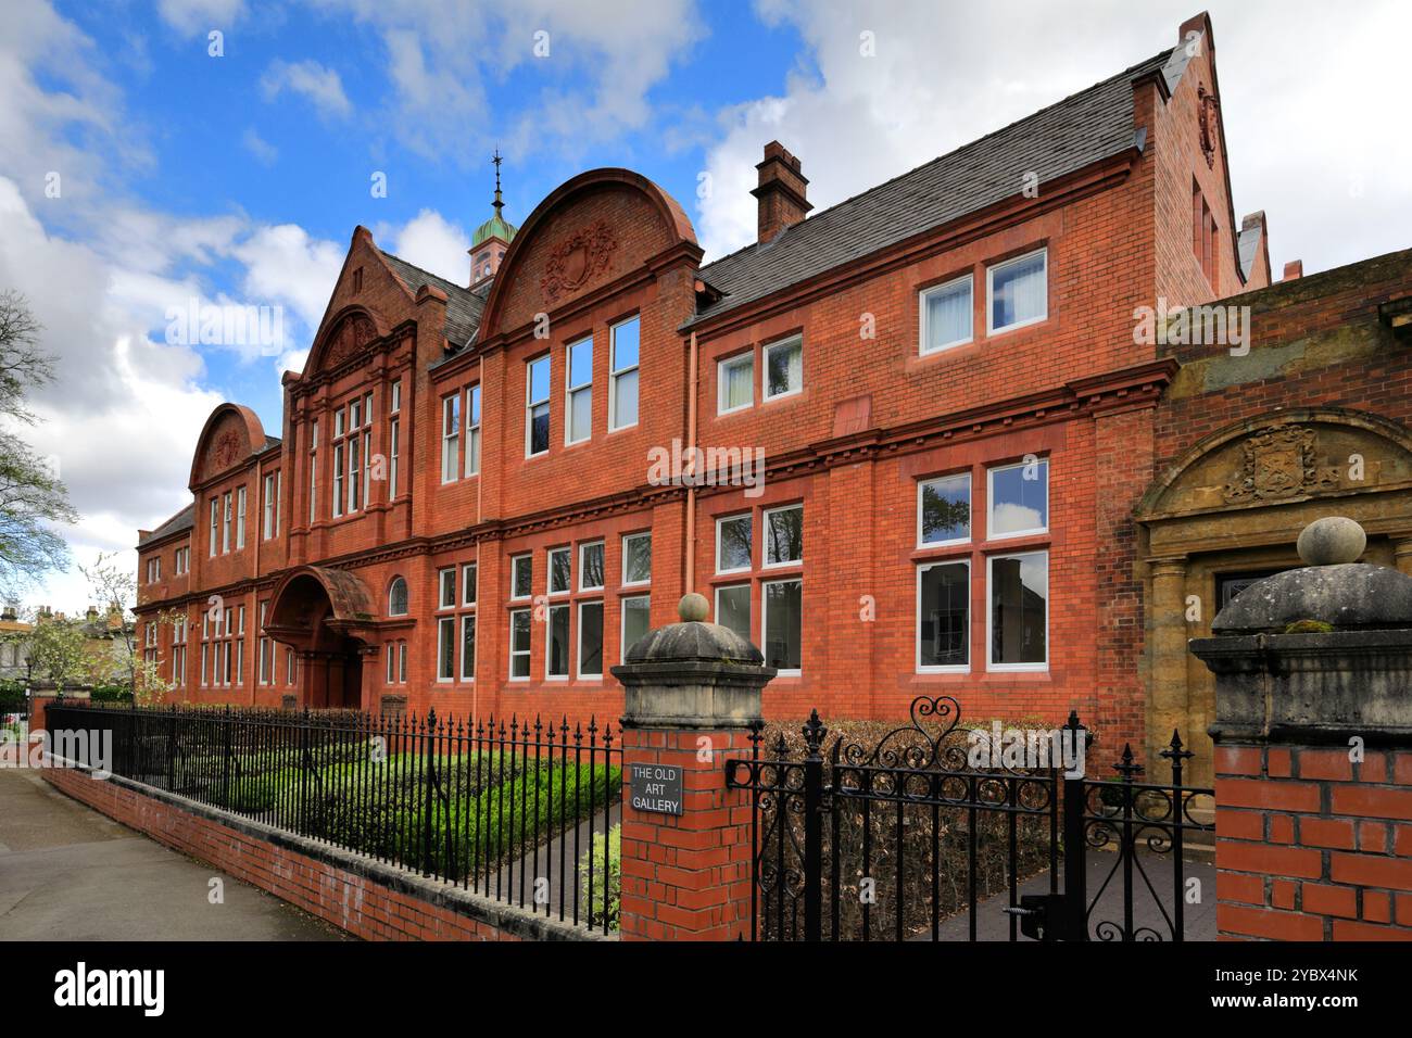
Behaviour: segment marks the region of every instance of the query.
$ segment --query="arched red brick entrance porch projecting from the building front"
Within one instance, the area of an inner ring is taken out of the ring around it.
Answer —
[[[367,589],[323,566],[291,571],[275,587],[265,634],[299,657],[298,706],[366,709],[363,660],[376,652]]]

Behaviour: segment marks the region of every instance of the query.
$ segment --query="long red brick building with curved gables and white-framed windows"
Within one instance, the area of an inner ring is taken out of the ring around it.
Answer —
[[[186,617],[152,651],[198,702],[616,716],[624,644],[699,590],[775,716],[952,692],[1138,739],[1132,507],[1176,366],[1135,311],[1271,280],[1210,23],[1176,35],[810,216],[771,143],[758,241],[706,266],[627,169],[518,230],[497,205],[467,285],[356,229],[281,438],[217,408],[192,506],[140,535],[141,621]],[[664,479],[682,443],[716,451]]]

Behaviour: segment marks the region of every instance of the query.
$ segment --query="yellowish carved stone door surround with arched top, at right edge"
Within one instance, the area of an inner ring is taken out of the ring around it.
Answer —
[[[1300,565],[1299,531],[1324,515],[1364,525],[1365,561],[1412,573],[1412,431],[1343,408],[1272,411],[1195,443],[1144,494],[1151,774],[1176,729],[1197,754],[1192,782],[1210,785],[1216,686],[1186,643],[1210,634],[1223,590]]]

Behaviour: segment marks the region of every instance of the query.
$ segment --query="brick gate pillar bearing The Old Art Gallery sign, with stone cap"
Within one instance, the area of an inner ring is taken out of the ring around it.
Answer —
[[[686,595],[682,623],[650,631],[613,668],[623,682],[624,941],[734,941],[750,935],[751,826],[727,757],[747,756],[761,691],[760,650],[705,623]]]

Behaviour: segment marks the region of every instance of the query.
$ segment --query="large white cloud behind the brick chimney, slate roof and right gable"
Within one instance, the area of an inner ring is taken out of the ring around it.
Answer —
[[[1388,127],[1405,121],[1399,48],[1412,8],[1347,6],[1315,40],[1310,27],[1329,17],[1315,0],[1209,7],[1236,215],[1265,209],[1276,271],[1296,256],[1313,271],[1406,247],[1412,226],[1388,216],[1412,213],[1412,140]],[[748,191],[772,137],[801,157],[819,210],[1173,47],[1193,14],[1185,0],[1010,0],[963,18],[940,18],[932,0],[866,13],[846,0],[762,0],[758,11],[794,27],[810,61],[778,96],[722,113],[706,158],[712,196],[698,203],[712,257],[754,240]],[[864,31],[875,56],[860,52]]]

